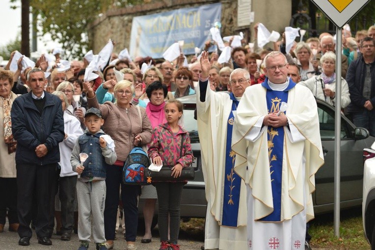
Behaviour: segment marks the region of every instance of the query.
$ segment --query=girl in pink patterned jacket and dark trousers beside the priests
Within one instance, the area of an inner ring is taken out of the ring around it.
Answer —
[[[193,160],[190,137],[188,131],[178,124],[183,114],[182,103],[179,100],[168,100],[164,110],[167,123],[155,127],[148,155],[156,165],[173,166],[172,176],[177,178],[181,176],[182,169],[188,167]],[[180,231],[181,194],[185,183],[186,181],[155,183],[159,199],[160,250],[180,250],[177,240]],[[170,242],[168,242],[168,213]]]

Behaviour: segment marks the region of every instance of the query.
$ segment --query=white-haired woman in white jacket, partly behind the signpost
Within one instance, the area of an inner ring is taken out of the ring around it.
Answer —
[[[321,75],[312,77],[298,84],[308,87],[316,98],[325,100],[332,106],[336,103],[336,55],[328,51],[321,56]],[[341,77],[341,108],[350,103],[350,94],[347,81]]]

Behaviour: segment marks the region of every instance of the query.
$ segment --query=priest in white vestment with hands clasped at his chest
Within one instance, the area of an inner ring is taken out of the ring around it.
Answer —
[[[241,98],[232,138],[235,172],[248,184],[248,249],[301,250],[324,163],[318,109],[311,91],[287,76],[282,53],[265,64],[265,82]]]

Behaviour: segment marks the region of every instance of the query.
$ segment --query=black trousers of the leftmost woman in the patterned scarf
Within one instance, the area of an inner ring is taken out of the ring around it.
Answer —
[[[0,178],[0,224],[5,224],[6,208],[9,224],[18,223],[17,179]]]

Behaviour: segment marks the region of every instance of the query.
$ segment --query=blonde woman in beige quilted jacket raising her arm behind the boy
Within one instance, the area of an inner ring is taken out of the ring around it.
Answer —
[[[104,209],[104,227],[107,239],[107,249],[113,248],[115,236],[117,207],[120,196],[124,207],[125,238],[128,250],[135,250],[135,237],[138,225],[138,195],[140,186],[125,185],[121,182],[122,169],[128,154],[134,147],[147,145],[151,142],[152,127],[150,120],[144,108],[132,103],[134,86],[128,80],[121,80],[115,84],[114,80],[115,103],[110,101],[99,104],[95,92],[89,82],[84,82],[84,88],[87,91],[88,107],[100,109],[102,117],[105,120],[103,130],[113,140],[117,160],[114,165],[107,167],[106,177],[106,206]]]

